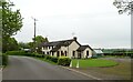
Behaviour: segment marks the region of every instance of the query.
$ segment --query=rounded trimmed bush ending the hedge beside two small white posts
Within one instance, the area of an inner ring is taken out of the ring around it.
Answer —
[[[68,57],[61,57],[61,58],[59,58],[59,60],[58,60],[58,64],[59,64],[59,65],[69,66],[70,63],[71,63],[71,59],[68,58]]]

